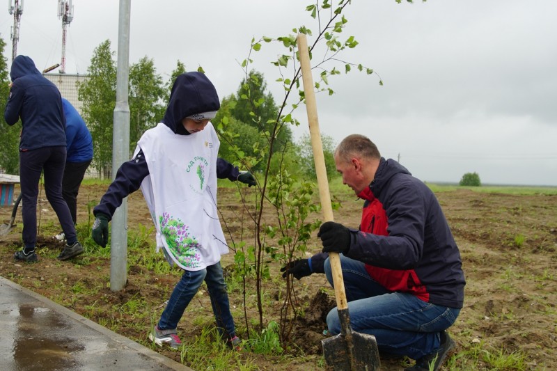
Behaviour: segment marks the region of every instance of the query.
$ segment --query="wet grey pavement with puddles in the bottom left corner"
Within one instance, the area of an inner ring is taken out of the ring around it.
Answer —
[[[0,369],[194,371],[0,276]]]

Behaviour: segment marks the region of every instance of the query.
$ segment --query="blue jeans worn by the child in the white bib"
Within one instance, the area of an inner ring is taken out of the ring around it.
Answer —
[[[176,284],[170,299],[168,299],[166,308],[162,312],[159,329],[170,330],[178,327],[180,318],[182,318],[189,302],[193,299],[203,281],[207,283],[207,291],[209,292],[219,333],[230,338],[235,336],[234,319],[232,313],[230,313],[228,292],[226,292],[226,283],[224,282],[220,262],[201,269],[201,271],[184,271],[182,278]]]

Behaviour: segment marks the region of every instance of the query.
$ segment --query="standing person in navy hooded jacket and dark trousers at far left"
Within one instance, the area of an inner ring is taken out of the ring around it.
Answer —
[[[83,253],[68,205],[62,197],[65,166],[65,118],[62,99],[52,84],[35,67],[29,56],[16,56],[10,70],[10,96],[4,111],[8,125],[22,121],[19,139],[19,179],[22,192],[23,249],[15,260],[36,262],[37,197],[40,175],[45,174],[45,193],[65,233],[67,244],[58,260]]]

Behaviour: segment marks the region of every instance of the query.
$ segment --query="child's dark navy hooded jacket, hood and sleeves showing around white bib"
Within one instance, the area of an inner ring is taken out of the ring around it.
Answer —
[[[186,72],[174,81],[162,123],[170,127],[176,135],[189,135],[182,125],[184,118],[195,113],[217,111],[220,106],[217,90],[205,74]],[[239,174],[236,166],[224,159],[217,159],[217,177],[235,181]],[[149,168],[140,149],[133,159],[120,166],[116,179],[102,196],[99,205],[93,209],[93,214],[97,216],[98,213],[102,213],[111,218],[116,208],[121,205],[122,199],[139,189],[147,175]]]

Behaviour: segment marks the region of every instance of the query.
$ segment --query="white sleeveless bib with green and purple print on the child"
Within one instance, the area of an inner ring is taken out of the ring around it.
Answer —
[[[149,168],[141,191],[157,228],[157,251],[164,247],[169,261],[189,271],[219,262],[228,245],[217,211],[220,142],[212,124],[179,135],[159,123],[137,144]]]

